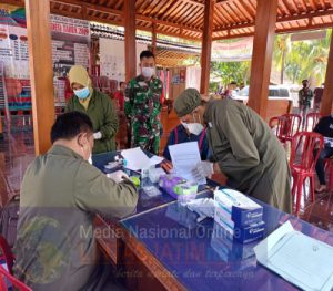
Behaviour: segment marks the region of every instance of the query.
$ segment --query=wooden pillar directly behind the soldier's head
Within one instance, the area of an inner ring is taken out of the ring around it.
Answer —
[[[135,0],[124,0],[124,44],[125,44],[125,79],[129,82],[137,75],[135,45]]]

